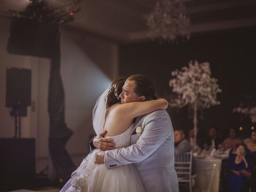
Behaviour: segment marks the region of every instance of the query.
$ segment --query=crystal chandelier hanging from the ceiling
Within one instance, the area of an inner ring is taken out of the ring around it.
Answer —
[[[181,0],[157,0],[147,24],[150,27],[149,36],[159,38],[161,42],[190,38],[190,20]]]

